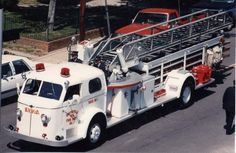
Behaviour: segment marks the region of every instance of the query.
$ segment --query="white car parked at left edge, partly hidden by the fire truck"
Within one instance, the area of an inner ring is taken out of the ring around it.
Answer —
[[[17,94],[16,84],[22,86],[26,75],[33,70],[33,62],[28,58],[15,55],[2,55],[2,99]]]

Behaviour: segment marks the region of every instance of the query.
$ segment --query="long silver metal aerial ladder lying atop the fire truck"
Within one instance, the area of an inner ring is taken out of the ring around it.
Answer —
[[[139,32],[154,31],[164,25],[169,29],[147,36],[139,35]],[[228,12],[214,14],[205,9],[103,40],[86,62],[102,69],[108,78],[117,67],[123,75],[128,69],[154,75],[158,86],[173,66],[190,70],[193,66],[205,64],[203,56],[207,48],[216,45],[216,40],[229,26],[232,26],[232,18]],[[199,46],[202,46],[201,50],[196,51]]]

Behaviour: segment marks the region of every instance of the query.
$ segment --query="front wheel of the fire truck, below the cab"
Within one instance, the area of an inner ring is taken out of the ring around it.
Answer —
[[[99,120],[98,118],[94,118],[90,124],[87,131],[87,137],[86,142],[89,145],[89,147],[96,147],[98,146],[104,137],[105,132],[105,126],[102,120]]]

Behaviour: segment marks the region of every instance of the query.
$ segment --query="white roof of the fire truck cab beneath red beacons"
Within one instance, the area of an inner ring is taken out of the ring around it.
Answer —
[[[68,68],[70,70],[70,75],[62,76],[62,68]],[[65,62],[45,67],[45,70],[41,72],[33,71],[31,74],[29,74],[28,78],[59,84],[69,81],[70,85],[73,85],[81,83],[84,80],[94,79],[101,75],[104,75],[104,73],[98,68],[86,64]]]

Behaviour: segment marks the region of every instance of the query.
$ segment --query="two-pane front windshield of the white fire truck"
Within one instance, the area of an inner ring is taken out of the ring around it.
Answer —
[[[61,97],[62,89],[63,88],[60,84],[35,79],[28,79],[25,84],[23,93],[59,100]]]

